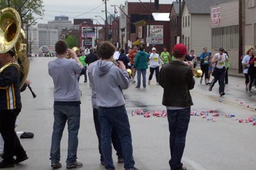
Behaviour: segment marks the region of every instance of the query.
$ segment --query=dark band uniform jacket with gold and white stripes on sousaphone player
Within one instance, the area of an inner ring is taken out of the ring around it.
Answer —
[[[18,68],[6,67],[0,73],[0,111],[21,108],[20,82]]]

